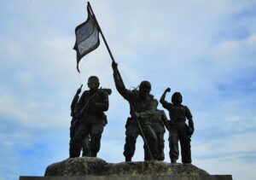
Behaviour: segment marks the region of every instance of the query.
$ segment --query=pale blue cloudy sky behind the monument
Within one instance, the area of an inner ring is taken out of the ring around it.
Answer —
[[[90,3],[128,89],[147,79],[157,99],[166,87],[182,92],[195,120],[193,164],[210,174],[253,180],[256,1]],[[1,180],[44,176],[49,164],[67,159],[70,103],[80,82],[87,89],[90,75],[113,90],[98,157],[125,160],[128,103],[115,89],[102,39],[76,71],[74,28],[86,16],[82,0],[1,2]],[[141,137],[133,160],[143,160]]]

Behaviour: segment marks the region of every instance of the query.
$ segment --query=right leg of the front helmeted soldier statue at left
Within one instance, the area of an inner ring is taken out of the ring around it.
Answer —
[[[103,132],[103,125],[101,123],[91,124],[90,129],[90,156],[96,157],[96,154],[101,148],[101,139]]]

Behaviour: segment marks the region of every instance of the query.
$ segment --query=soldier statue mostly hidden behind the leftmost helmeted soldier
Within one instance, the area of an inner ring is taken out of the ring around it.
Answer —
[[[75,117],[75,113],[74,113],[74,108],[76,106],[76,104],[79,102],[79,94],[81,93],[83,84],[81,85],[81,87],[77,90],[75,96],[73,97],[73,101],[71,103],[71,125],[70,125],[70,142],[73,141],[73,136],[75,135],[75,132],[78,130],[79,128],[79,120]],[[70,145],[69,142],[69,145]],[[82,149],[83,149],[83,154],[82,156],[90,156],[89,154],[89,143],[90,143],[90,136],[85,136],[84,141],[82,142]],[[69,147],[69,155],[71,153],[71,147]]]

